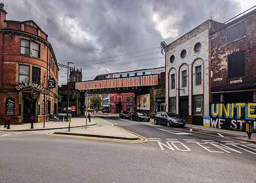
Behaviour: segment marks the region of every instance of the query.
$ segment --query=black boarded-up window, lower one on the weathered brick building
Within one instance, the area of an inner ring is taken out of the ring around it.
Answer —
[[[244,51],[228,56],[228,78],[245,76]]]

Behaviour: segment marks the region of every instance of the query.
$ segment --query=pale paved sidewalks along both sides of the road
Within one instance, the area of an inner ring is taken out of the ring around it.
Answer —
[[[98,117],[119,117],[119,114],[113,113],[102,113],[102,112],[95,112],[94,115],[91,115],[91,122],[87,120],[87,129],[86,129],[86,117],[74,117],[71,119],[70,123],[70,131],[68,131],[69,123],[67,122],[45,122],[44,123],[34,123],[34,129],[30,129],[31,124],[26,123],[22,125],[10,125],[11,129],[4,128],[4,125],[0,125],[0,131],[12,132],[12,131],[31,131],[31,130],[51,130],[51,129],[63,129],[58,130],[55,133],[61,134],[70,134],[70,135],[80,135],[80,136],[94,136],[98,138],[112,138],[112,139],[124,139],[124,140],[137,140],[138,136],[134,135],[131,132],[127,132],[124,129],[118,128],[113,126],[113,124],[104,120],[104,118]],[[151,118],[150,122],[144,122],[154,124],[154,119]],[[84,127],[77,129],[79,127]],[[231,130],[224,130],[219,128],[211,128],[205,126],[198,126],[198,125],[189,125],[183,129],[192,129],[193,130],[203,130],[208,132],[215,132],[220,133],[221,135],[228,136],[231,139],[237,139],[242,141],[247,141],[256,144],[256,133],[252,133],[251,139],[248,139],[247,133],[242,131],[231,131]],[[220,135],[220,136],[221,136]]]

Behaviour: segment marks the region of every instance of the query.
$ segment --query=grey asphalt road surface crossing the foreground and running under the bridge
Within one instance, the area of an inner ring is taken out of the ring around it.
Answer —
[[[0,132],[1,182],[255,182],[254,144],[186,128],[105,120],[147,141]]]

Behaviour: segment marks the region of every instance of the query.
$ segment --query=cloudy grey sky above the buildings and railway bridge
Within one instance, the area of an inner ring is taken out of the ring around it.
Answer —
[[[97,75],[164,66],[167,45],[204,22],[225,22],[254,0],[2,0],[7,20],[33,20],[49,36],[57,62]],[[255,8],[253,8],[255,9]],[[59,67],[59,85],[67,68]]]

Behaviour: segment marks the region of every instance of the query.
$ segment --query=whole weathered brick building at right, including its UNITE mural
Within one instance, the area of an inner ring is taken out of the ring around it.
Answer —
[[[211,34],[210,123],[245,130],[256,127],[256,10]]]

